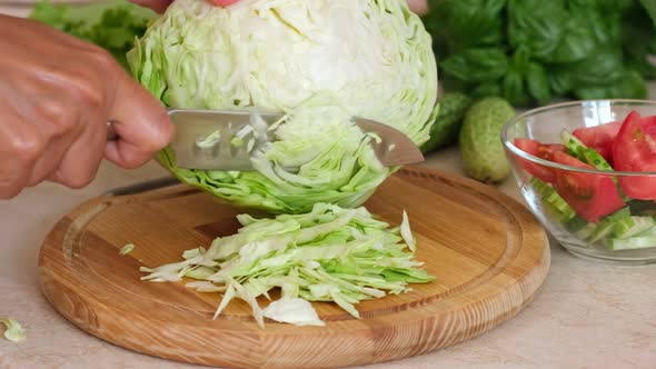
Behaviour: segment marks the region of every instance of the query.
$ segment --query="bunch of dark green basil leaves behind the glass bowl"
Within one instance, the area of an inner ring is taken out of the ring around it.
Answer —
[[[647,0],[429,0],[447,92],[553,99],[646,97],[656,78],[656,6]]]

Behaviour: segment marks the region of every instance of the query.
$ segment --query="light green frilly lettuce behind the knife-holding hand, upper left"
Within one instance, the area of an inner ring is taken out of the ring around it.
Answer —
[[[30,14],[33,20],[106,49],[125,68],[126,53],[133,47],[135,38],[143,34],[156,17],[153,11],[127,0],[83,6],[40,0]]]

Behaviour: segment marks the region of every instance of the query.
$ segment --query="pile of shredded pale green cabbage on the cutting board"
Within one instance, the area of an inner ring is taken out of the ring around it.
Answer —
[[[185,251],[183,261],[142,267],[149,273],[142,280],[198,279],[187,287],[225,292],[216,316],[239,298],[250,305],[260,326],[265,317],[320,326],[302,300],[332,301],[359,318],[355,307],[359,301],[406,292],[409,283],[434,279],[414,260],[416,243],[405,211],[398,228],[375,219],[365,208],[327,203],[317,203],[306,215],[237,219],[243,226],[238,233],[215,239],[207,250]],[[281,290],[280,300],[262,310],[257,298],[270,299],[275,288]]]

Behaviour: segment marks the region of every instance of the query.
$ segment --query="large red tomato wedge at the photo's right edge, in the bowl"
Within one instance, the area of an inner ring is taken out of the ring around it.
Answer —
[[[615,169],[620,171],[656,171],[656,117],[640,118],[632,111],[613,144]],[[619,186],[626,196],[640,200],[656,200],[656,177],[620,177]]]

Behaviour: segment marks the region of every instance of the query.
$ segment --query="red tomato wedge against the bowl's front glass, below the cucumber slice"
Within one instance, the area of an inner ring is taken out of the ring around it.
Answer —
[[[554,152],[554,161],[579,168],[595,169],[592,166],[563,152]],[[610,176],[579,173],[556,169],[556,190],[576,210],[576,213],[592,222],[624,207],[615,182]]]

